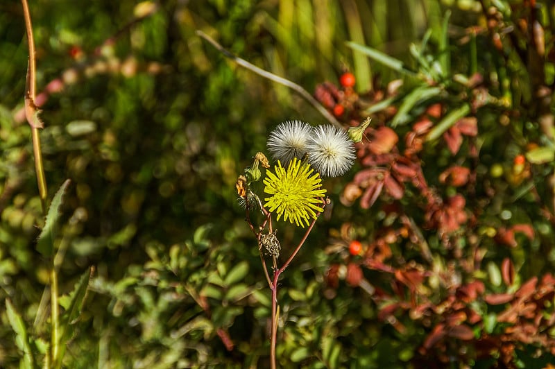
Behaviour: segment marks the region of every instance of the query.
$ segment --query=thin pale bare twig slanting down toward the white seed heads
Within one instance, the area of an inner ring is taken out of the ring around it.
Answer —
[[[298,94],[300,94],[300,96],[302,96],[309,103],[311,103],[311,105],[314,106],[314,108],[316,108],[316,110],[318,110],[318,112],[320,112],[320,114],[322,114],[324,116],[324,118],[327,119],[327,121],[332,123],[334,126],[343,129],[343,126],[341,126],[341,123],[339,123],[339,121],[337,121],[337,119],[335,119],[335,117],[332,114],[330,114],[330,112],[328,112],[321,105],[321,103],[318,103],[318,101],[316,101],[316,98],[312,97],[312,95],[309,94],[307,92],[307,90],[302,88],[300,85],[297,85],[296,83],[293,83],[290,80],[287,80],[286,78],[276,76],[275,74],[270,73],[269,71],[265,71],[264,69],[261,69],[261,68],[257,67],[256,65],[253,65],[250,62],[248,62],[244,59],[241,59],[236,55],[233,55],[232,53],[230,53],[230,51],[224,49],[223,46],[221,46],[221,44],[216,42],[214,39],[212,39],[212,37],[210,37],[209,35],[207,35],[203,31],[197,30],[196,34],[199,35],[200,37],[202,37],[204,40],[206,40],[212,46],[214,46],[214,48],[216,50],[223,53],[223,55],[226,58],[230,58],[231,60],[236,62],[238,65],[241,65],[241,67],[245,67],[246,69],[249,69],[250,71],[255,72],[259,76],[267,78],[268,80],[273,80],[275,83],[279,83],[280,85],[284,85],[285,87],[289,87],[290,89],[294,89],[296,92],[298,92]]]

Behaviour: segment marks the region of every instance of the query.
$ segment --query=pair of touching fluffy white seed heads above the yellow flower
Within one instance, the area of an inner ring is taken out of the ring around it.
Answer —
[[[312,127],[302,121],[280,123],[268,137],[268,151],[287,163],[293,157],[307,162],[325,177],[345,174],[355,162],[355,146],[345,130],[330,124]]]

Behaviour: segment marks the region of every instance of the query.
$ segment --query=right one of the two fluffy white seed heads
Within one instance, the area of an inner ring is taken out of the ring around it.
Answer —
[[[307,144],[308,162],[326,177],[345,174],[355,161],[355,146],[344,130],[331,125],[314,128]]]

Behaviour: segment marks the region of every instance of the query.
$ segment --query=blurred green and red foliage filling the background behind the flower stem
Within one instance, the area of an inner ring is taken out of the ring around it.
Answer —
[[[3,1],[0,366],[44,366],[53,330],[51,364],[68,368],[268,366],[271,295],[234,183],[277,123],[324,119],[197,29],[309,92],[330,81],[345,128],[372,118],[280,280],[280,366],[547,366],[549,4],[32,1],[56,214],[44,218],[22,115],[21,3]],[[336,83],[345,70],[356,92]],[[300,234],[280,223],[280,237],[289,255]],[[42,295],[56,252],[53,328]]]

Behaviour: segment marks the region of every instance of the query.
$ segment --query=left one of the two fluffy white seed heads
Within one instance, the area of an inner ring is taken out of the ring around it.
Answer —
[[[300,159],[307,152],[312,126],[302,121],[280,123],[268,137],[268,151],[275,160],[287,164],[293,157]]]

